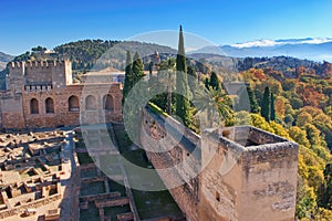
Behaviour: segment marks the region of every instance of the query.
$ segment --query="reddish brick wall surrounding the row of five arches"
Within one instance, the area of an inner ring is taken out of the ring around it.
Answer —
[[[122,109],[121,99],[122,92],[120,85],[71,85],[64,90],[44,91],[44,92],[25,92],[23,94],[23,113],[25,118],[25,126],[29,128],[38,127],[56,127],[56,126],[73,126],[80,125],[80,117],[86,124],[105,123],[110,120],[121,120]],[[111,95],[114,97],[114,110],[105,112],[102,106],[103,94],[100,94],[100,88],[103,91],[110,90]],[[80,112],[69,110],[69,98],[76,96],[80,101]],[[96,99],[96,109],[85,110],[85,97],[93,95]],[[32,98],[39,101],[39,114],[31,114],[30,102]],[[45,101],[52,98],[54,103],[54,113],[46,113]]]

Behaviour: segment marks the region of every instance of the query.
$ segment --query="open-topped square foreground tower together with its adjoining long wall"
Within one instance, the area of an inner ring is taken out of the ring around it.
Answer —
[[[148,108],[142,130],[149,160],[187,220],[294,220],[298,144],[251,126],[199,136]],[[165,151],[153,151],[158,146]]]

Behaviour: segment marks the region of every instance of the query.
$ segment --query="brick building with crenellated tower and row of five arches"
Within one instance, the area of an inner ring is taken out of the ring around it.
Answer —
[[[73,126],[122,118],[122,84],[73,84],[71,62],[11,62],[0,92],[4,129]],[[98,78],[100,80],[100,78]]]

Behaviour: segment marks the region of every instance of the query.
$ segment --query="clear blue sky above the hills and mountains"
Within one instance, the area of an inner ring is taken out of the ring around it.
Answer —
[[[332,38],[331,12],[331,0],[4,0],[0,51],[20,54],[83,39],[125,40],[179,24],[215,44]]]

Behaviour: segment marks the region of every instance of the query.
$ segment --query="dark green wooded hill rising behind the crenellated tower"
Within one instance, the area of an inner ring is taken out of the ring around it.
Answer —
[[[156,51],[174,54],[175,50],[153,43],[134,41],[82,40],[55,46],[53,53],[46,53],[42,46],[33,48],[14,61],[65,60],[72,61],[74,72],[87,72],[91,69],[112,66],[124,70],[126,51],[137,52],[142,56],[154,54]],[[148,61],[146,61],[147,63]]]

